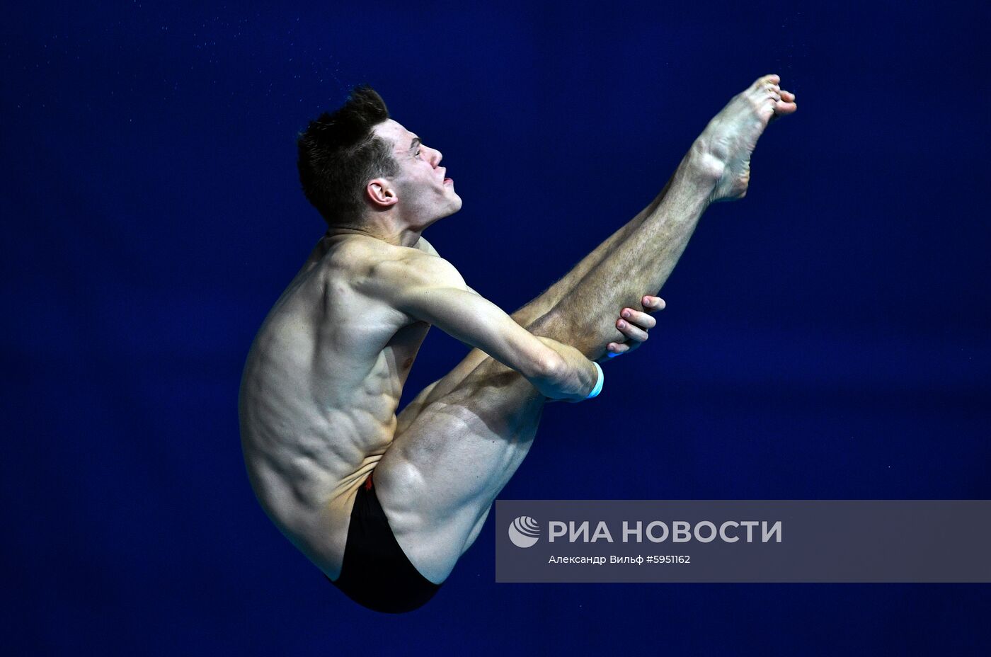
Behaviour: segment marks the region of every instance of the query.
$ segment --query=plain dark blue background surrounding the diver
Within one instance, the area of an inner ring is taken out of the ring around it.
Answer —
[[[987,654],[987,585],[496,585],[492,521],[433,602],[376,614],[256,503],[236,400],[323,231],[295,133],[351,85],[443,151],[465,205],[427,235],[511,310],[645,205],[729,96],[779,72],[800,109],[758,145],[747,198],[710,210],[650,343],[608,366],[602,398],[548,407],[501,496],[991,497],[988,18],[903,2],[9,9],[7,649]],[[431,335],[405,398],[464,353]]]

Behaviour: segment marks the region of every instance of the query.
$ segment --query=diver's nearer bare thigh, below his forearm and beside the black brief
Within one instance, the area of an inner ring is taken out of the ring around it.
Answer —
[[[389,525],[413,566],[438,582],[477,536],[522,463],[544,398],[519,375],[473,373],[426,404],[375,470]]]

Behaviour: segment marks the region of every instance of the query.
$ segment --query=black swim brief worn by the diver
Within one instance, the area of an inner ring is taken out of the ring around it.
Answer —
[[[413,568],[399,547],[371,475],[355,497],[341,576],[331,584],[351,600],[385,613],[412,611],[440,589]]]

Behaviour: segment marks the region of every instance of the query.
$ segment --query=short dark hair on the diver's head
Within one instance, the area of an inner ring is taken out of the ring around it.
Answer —
[[[372,132],[387,118],[382,96],[362,84],[340,109],[324,112],[299,133],[299,182],[328,225],[360,219],[368,181],[398,173],[392,147]]]

